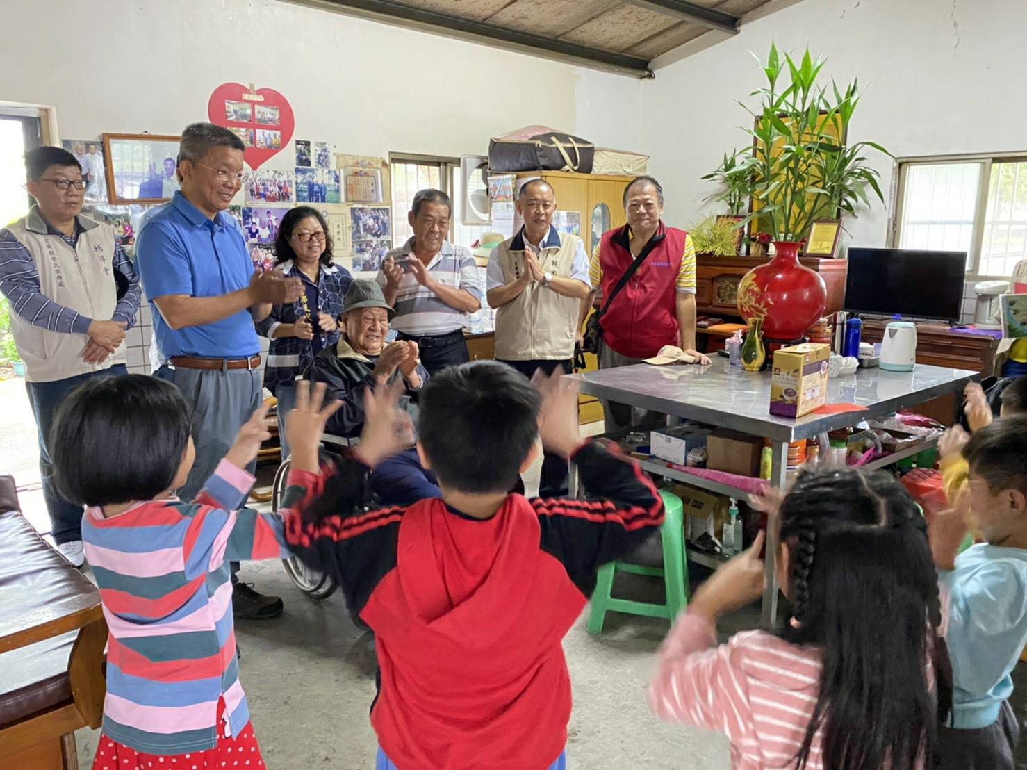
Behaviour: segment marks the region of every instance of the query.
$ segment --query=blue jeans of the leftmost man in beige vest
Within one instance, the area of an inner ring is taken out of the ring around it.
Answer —
[[[53,485],[53,463],[50,460],[50,430],[53,426],[53,415],[68,394],[82,383],[96,377],[116,377],[126,374],[128,370],[125,365],[118,363],[100,372],[89,372],[66,380],[25,383],[39,433],[39,475],[43,483],[43,499],[46,501],[46,512],[50,516],[50,533],[58,545],[82,539],[82,506],[61,497]]]

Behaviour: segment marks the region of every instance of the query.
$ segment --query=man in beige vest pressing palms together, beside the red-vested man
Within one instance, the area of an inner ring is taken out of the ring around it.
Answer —
[[[571,372],[578,307],[588,296],[588,259],[581,238],[553,226],[557,198],[541,179],[517,197],[524,227],[492,251],[486,273],[489,306],[496,309],[496,358],[526,377],[537,370]],[[567,461],[545,454],[540,497],[567,494]]]

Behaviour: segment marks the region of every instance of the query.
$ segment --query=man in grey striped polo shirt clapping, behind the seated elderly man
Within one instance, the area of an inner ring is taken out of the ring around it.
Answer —
[[[428,374],[470,360],[463,330],[482,307],[478,265],[465,246],[446,240],[453,203],[442,190],[420,190],[408,215],[414,237],[385,256],[378,271],[392,329],[416,342]]]

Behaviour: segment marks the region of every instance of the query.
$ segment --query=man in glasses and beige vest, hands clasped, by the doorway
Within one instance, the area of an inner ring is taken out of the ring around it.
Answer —
[[[10,302],[10,330],[25,361],[50,532],[58,549],[81,567],[82,506],[53,485],[50,425],[80,384],[127,374],[124,338],[139,311],[139,278],[110,226],[80,216],[86,183],[75,156],[38,147],[25,161],[36,205],[0,230],[0,291]]]

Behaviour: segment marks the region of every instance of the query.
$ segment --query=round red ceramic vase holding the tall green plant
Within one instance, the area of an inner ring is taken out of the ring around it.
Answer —
[[[770,340],[798,340],[824,315],[828,290],[815,270],[799,264],[799,244],[774,241],[774,258],[738,283],[738,312],[748,323],[763,318]]]

